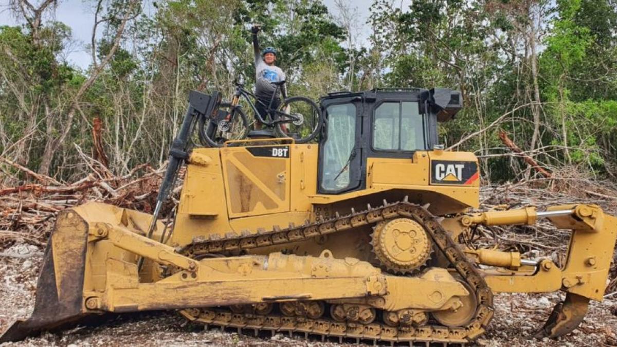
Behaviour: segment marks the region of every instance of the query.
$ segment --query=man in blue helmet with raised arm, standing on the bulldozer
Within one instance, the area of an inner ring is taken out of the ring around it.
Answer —
[[[261,30],[259,25],[253,25],[251,28],[253,36],[253,49],[255,51],[255,96],[257,96],[257,102],[255,107],[263,119],[268,119],[268,114],[273,117],[273,114],[268,112],[268,109],[275,110],[281,105],[281,99],[279,91],[276,90],[276,86],[272,82],[281,82],[285,80],[285,73],[280,67],[275,65],[276,62],[276,49],[273,47],[267,47],[260,51],[259,40],[257,40],[257,33]],[[285,85],[282,85],[281,93],[283,98],[286,98],[287,89]],[[272,96],[276,92],[275,98]],[[270,104],[270,101],[272,102]],[[268,105],[270,107],[268,107]],[[259,123],[259,120],[257,120]]]

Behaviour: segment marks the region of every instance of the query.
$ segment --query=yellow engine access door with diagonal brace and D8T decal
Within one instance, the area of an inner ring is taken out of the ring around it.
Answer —
[[[220,153],[230,218],[289,211],[291,146],[226,147]]]

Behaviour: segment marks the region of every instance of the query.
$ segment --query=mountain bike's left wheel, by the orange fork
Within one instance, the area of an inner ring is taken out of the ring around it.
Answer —
[[[220,109],[215,119],[203,117],[199,127],[199,138],[210,147],[222,147],[226,141],[243,140],[249,134],[249,120],[239,107],[231,112]]]

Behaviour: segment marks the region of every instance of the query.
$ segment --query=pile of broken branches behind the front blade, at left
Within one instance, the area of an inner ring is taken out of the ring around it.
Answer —
[[[57,212],[87,201],[151,212],[166,167],[153,169],[143,164],[116,176],[102,165],[92,165],[85,177],[64,183],[8,159],[0,158],[0,162],[30,178],[30,183],[0,186],[0,251],[15,241],[44,245]]]

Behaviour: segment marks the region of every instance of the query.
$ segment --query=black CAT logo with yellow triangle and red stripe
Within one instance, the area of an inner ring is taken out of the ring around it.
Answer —
[[[471,185],[478,180],[476,162],[431,161],[431,184]]]

